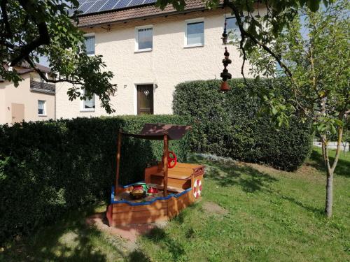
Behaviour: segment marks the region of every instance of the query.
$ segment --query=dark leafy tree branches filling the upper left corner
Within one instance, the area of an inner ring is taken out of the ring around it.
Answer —
[[[78,1],[0,0],[0,59],[8,66],[26,63],[46,82],[69,82],[69,99],[99,96],[106,112],[113,112],[109,94],[113,73],[106,71],[102,56],[88,56],[83,32],[76,27]],[[48,57],[57,78],[48,79],[36,67],[39,57]],[[16,86],[22,79],[0,66],[0,76]],[[80,92],[85,89],[85,92]]]

